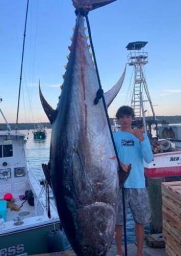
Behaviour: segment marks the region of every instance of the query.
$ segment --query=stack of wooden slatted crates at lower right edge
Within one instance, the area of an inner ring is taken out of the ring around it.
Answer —
[[[162,183],[163,237],[168,256],[181,256],[181,181]]]

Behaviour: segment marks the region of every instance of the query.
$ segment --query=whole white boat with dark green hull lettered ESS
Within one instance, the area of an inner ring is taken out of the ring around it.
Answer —
[[[47,252],[48,233],[60,225],[51,199],[49,208],[50,219],[47,185],[29,168],[25,135],[0,131],[0,255]]]

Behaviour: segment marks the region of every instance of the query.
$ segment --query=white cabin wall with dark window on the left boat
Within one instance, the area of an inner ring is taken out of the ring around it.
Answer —
[[[4,194],[18,194],[29,189],[24,135],[0,132],[0,199]]]

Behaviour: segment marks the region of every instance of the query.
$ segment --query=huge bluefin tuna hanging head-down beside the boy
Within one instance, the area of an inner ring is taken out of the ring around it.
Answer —
[[[77,7],[79,1],[74,2]],[[103,5],[113,0],[93,2]],[[99,84],[84,19],[77,10],[57,109],[54,111],[48,105],[41,91],[40,98],[52,124],[48,168],[59,216],[75,253],[91,256],[106,255],[111,244],[119,182],[118,163],[102,99],[94,104]],[[105,94],[107,106],[117,95],[124,74],[125,71]]]

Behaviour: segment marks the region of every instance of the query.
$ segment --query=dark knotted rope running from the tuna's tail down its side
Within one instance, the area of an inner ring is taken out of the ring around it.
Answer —
[[[90,40],[90,44],[91,44],[92,54],[93,54],[94,63],[95,63],[95,70],[96,70],[98,84],[99,84],[99,89],[97,91],[96,98],[94,99],[94,104],[97,104],[98,100],[100,98],[102,98],[105,113],[106,113],[106,118],[107,118],[107,121],[108,121],[109,130],[110,130],[110,134],[111,134],[111,139],[112,139],[112,142],[113,142],[116,158],[117,158],[117,161],[118,161],[119,172],[124,172],[122,170],[120,162],[119,162],[119,157],[118,157],[118,153],[117,153],[117,150],[116,150],[116,145],[115,145],[114,138],[113,138],[113,133],[112,133],[112,130],[111,130],[111,124],[110,124],[109,115],[108,115],[108,111],[107,111],[107,105],[106,105],[105,98],[104,98],[104,91],[102,90],[102,87],[101,87],[99,72],[98,72],[98,68],[97,68],[97,61],[96,61],[96,58],[95,58],[95,52],[94,52],[94,47],[93,47],[93,42],[92,42],[90,24],[89,24],[89,19],[88,19],[88,11],[86,11],[85,9],[76,9],[75,14],[77,15],[78,13],[80,13],[81,15],[83,15],[86,18],[86,23],[87,23],[88,33],[89,33],[89,40]],[[123,219],[124,219],[124,249],[125,249],[125,256],[127,256],[126,219],[125,219],[126,214],[125,214],[125,201],[124,201],[124,188],[123,188],[123,186],[122,186],[122,201],[123,201]]]

